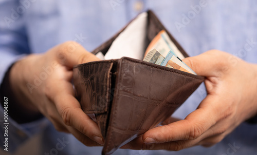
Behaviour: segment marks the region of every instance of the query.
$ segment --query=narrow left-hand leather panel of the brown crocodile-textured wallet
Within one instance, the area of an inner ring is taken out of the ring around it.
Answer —
[[[77,99],[85,113],[95,113],[103,137],[106,133],[109,110],[112,66],[112,61],[99,61],[74,68]]]

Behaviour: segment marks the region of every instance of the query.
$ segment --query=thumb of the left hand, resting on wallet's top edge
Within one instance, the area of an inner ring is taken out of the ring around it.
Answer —
[[[88,52],[76,42],[66,42],[54,48],[59,63],[69,68],[92,61],[99,61],[98,57]]]

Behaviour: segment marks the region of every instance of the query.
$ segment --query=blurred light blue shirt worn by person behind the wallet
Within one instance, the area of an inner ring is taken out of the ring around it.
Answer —
[[[256,8],[257,2],[254,0],[1,0],[0,81],[8,67],[22,56],[46,52],[65,41],[75,40],[92,51],[138,13],[148,9],[157,14],[163,25],[191,56],[218,49],[247,62],[257,63]],[[204,85],[201,85],[174,116],[185,118],[205,96]],[[0,121],[3,117],[1,107]],[[84,146],[73,135],[56,131],[46,119],[17,124],[9,118],[9,123],[8,153],[100,154],[102,149]],[[222,142],[210,148],[196,146],[178,152],[119,149],[114,154],[255,154],[256,131],[257,125],[242,123]],[[7,154],[3,151],[2,123],[0,141],[0,153]]]

